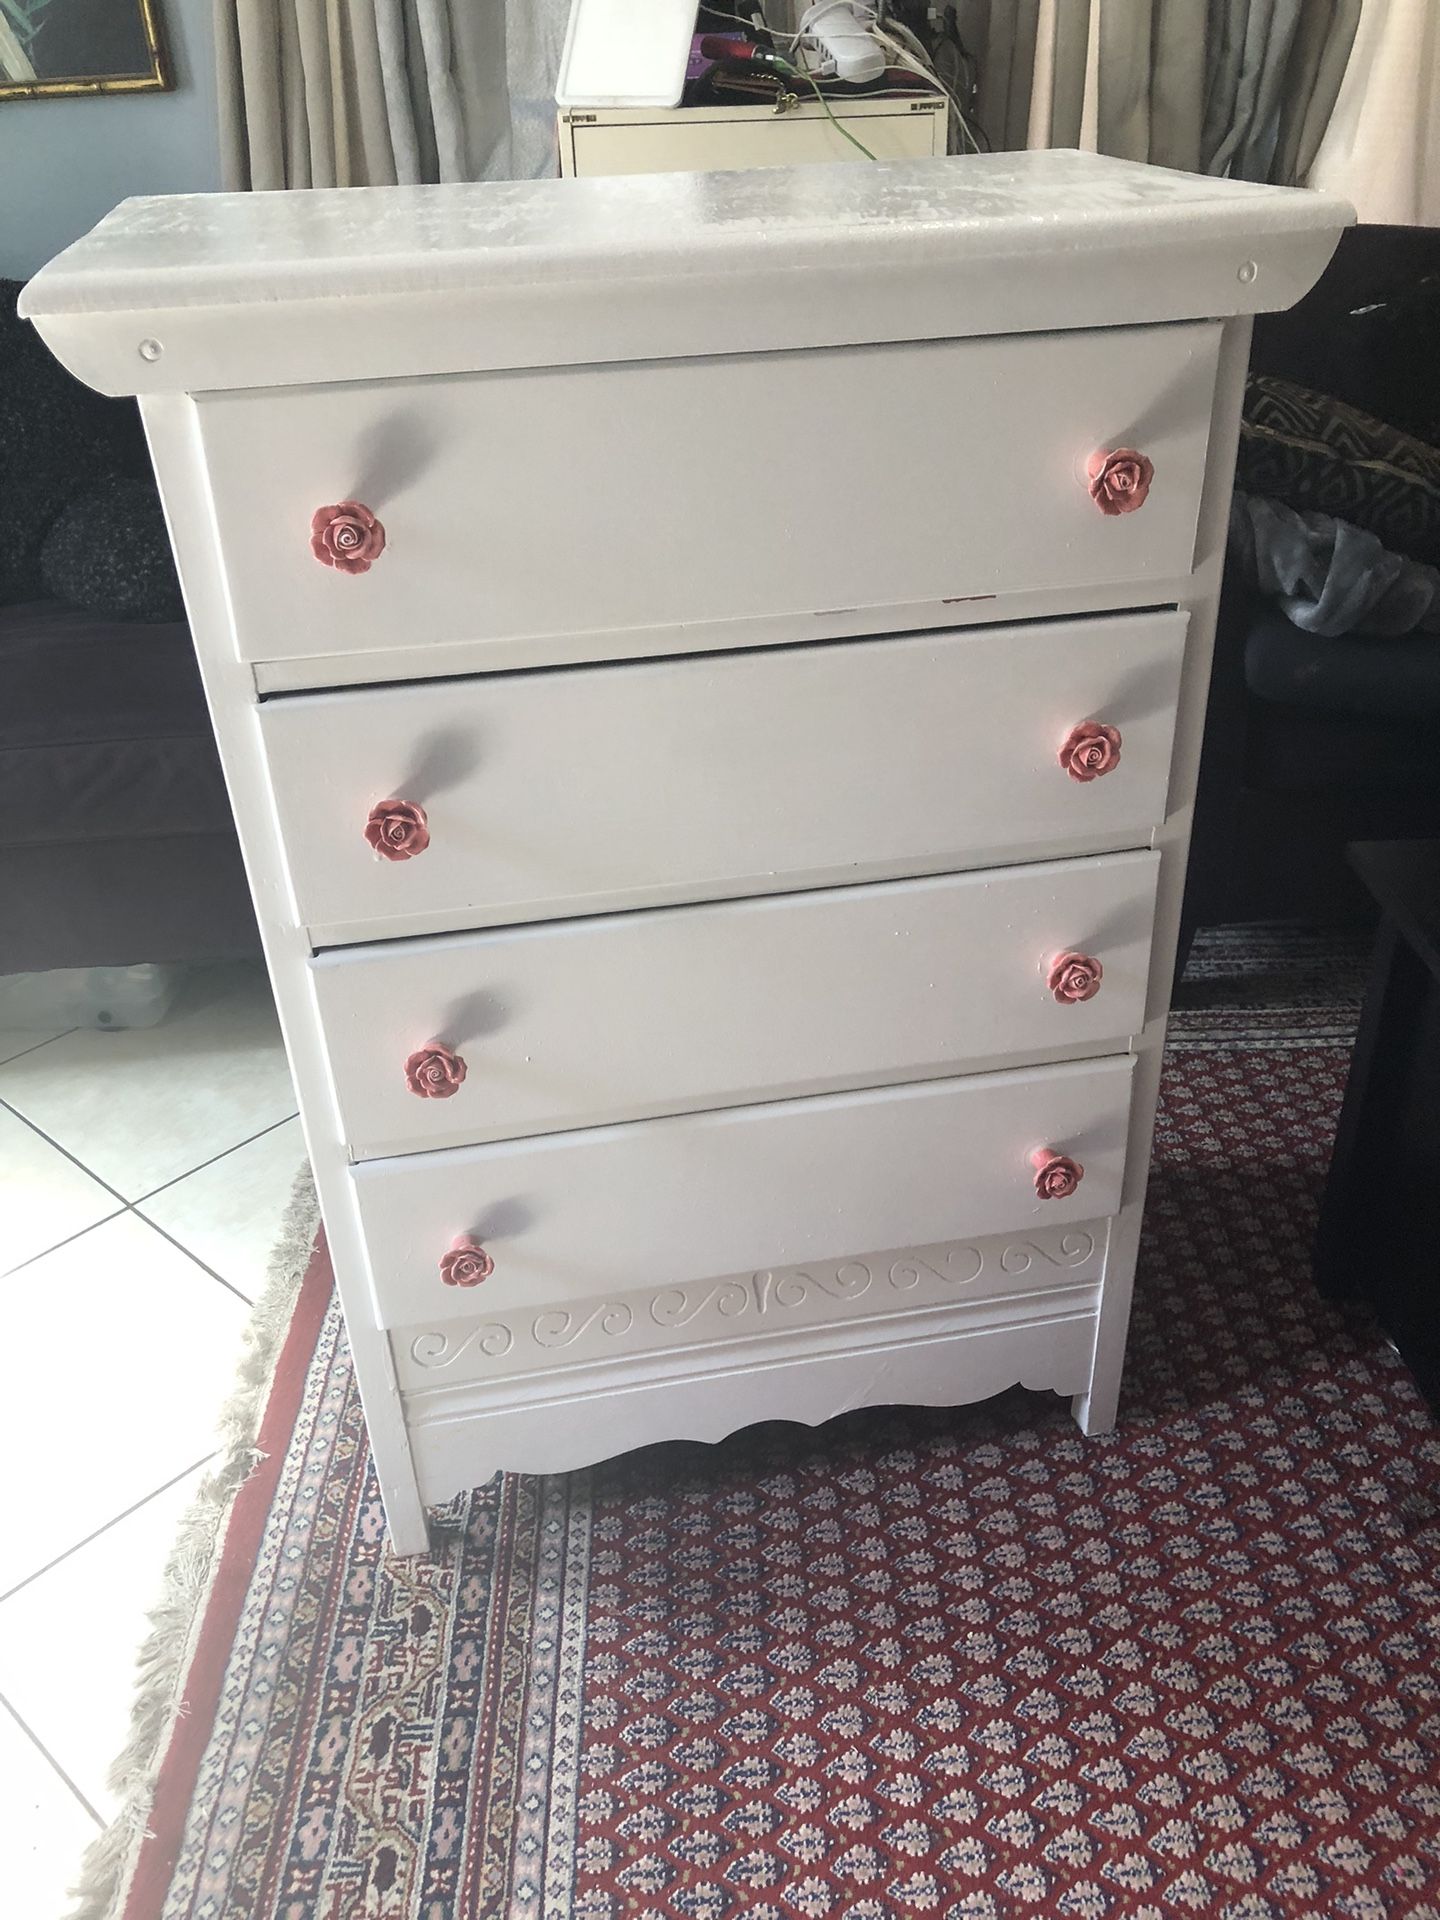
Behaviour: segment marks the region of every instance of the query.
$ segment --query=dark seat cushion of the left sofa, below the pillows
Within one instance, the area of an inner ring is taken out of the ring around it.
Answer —
[[[0,845],[232,835],[190,630],[0,607]]]

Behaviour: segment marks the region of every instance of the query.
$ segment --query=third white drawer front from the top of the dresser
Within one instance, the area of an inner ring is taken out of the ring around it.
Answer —
[[[1123,1046],[1144,1023],[1158,868],[1121,852],[323,954],[349,1152]],[[1083,968],[1050,983],[1068,950],[1100,962],[1091,998]]]

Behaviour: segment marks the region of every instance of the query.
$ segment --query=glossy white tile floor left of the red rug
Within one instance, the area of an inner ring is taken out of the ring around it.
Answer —
[[[56,1920],[113,1811],[134,1653],[305,1148],[269,987],[150,1031],[0,1033],[0,1824]]]

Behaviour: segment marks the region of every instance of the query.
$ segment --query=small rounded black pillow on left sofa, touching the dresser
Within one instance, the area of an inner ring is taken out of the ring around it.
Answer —
[[[109,620],[182,620],[180,582],[150,480],[98,480],[61,509],[40,547],[56,599]]]

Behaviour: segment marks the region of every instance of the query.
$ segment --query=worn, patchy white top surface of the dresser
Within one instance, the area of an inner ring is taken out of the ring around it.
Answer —
[[[424,284],[641,273],[724,255],[866,259],[897,244],[983,261],[1202,230],[1236,236],[1334,225],[1334,202],[1144,167],[1098,154],[981,154],[968,161],[766,167],[593,180],[361,186],[127,200],[67,248],[27,311],[106,313]]]

